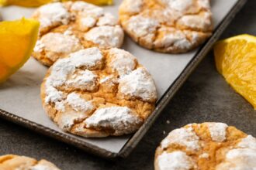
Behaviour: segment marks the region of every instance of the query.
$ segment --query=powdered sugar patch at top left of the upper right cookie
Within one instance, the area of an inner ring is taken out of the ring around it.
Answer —
[[[143,0],[124,0],[120,8],[124,12],[134,14],[140,12],[143,5]]]

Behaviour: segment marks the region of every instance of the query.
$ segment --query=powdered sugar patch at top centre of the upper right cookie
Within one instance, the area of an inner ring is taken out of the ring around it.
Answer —
[[[179,12],[185,12],[192,4],[193,0],[161,0],[165,4],[168,4],[168,6],[172,9],[175,9]]]

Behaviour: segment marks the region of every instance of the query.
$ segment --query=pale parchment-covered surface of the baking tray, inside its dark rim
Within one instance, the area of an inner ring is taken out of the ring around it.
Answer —
[[[215,28],[238,1],[239,0],[211,1]],[[121,0],[116,0],[116,5],[105,7],[106,11],[117,15],[117,8],[120,2]],[[19,19],[22,16],[29,17],[34,9],[10,6],[2,8],[1,10],[3,19],[12,20]],[[123,49],[137,56],[139,62],[146,66],[154,76],[154,80],[157,84],[158,98],[161,98],[164,92],[168,90],[168,87],[175,82],[199,50],[196,49],[190,53],[178,55],[155,53],[137,46],[137,44],[128,37],[125,39]],[[57,128],[57,126],[50,121],[47,114],[44,113],[40,100],[40,83],[46,71],[47,67],[42,66],[33,58],[29,59],[29,62],[27,62],[21,70],[11,76],[7,82],[0,85],[0,108],[61,134],[65,134],[69,136],[71,140],[88,142],[106,151],[119,153],[126,145],[126,142],[129,141],[130,135],[101,139],[80,138],[61,131],[61,129]]]

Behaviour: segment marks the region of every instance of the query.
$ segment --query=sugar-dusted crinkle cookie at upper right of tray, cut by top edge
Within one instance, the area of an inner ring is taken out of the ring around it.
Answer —
[[[185,53],[213,31],[209,0],[123,0],[123,29],[140,46],[163,53]]]

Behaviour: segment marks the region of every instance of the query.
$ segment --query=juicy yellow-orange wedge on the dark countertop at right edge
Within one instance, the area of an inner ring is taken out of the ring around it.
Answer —
[[[256,37],[234,36],[214,46],[217,70],[256,109]]]

